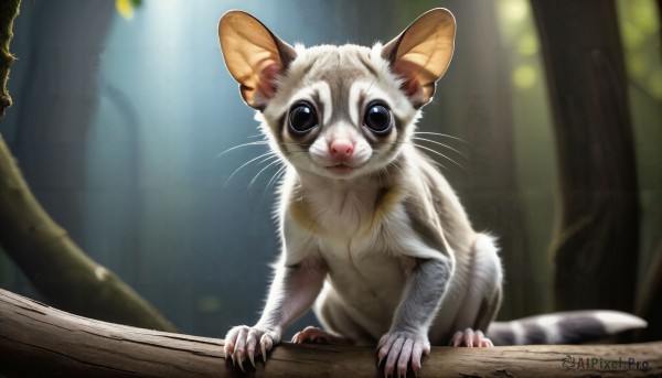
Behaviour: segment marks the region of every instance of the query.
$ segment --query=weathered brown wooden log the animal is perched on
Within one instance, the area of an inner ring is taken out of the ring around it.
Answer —
[[[573,365],[574,364],[574,365]],[[381,377],[373,347],[282,344],[246,374],[223,341],[72,315],[0,290],[0,375],[8,377]],[[660,377],[662,342],[433,347],[419,377]]]

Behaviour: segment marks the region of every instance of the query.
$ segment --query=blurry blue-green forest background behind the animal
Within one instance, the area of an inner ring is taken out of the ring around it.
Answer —
[[[662,255],[662,37],[655,0],[615,3],[627,68],[619,100],[629,107],[639,201],[634,242],[615,253],[633,262],[622,274],[636,306]],[[435,7],[457,18],[456,53],[420,128],[462,141],[436,139],[455,150],[418,142],[458,163],[436,156],[476,228],[501,239],[499,317],[553,311],[562,183],[526,0],[23,1],[11,45],[14,105],[0,132],[33,193],[83,250],[180,331],[222,337],[257,320],[279,246],[271,219],[278,166],[260,159],[244,166],[266,147],[222,153],[259,137],[223,64],[218,18],[242,9],[290,43],[371,45]],[[572,52],[575,42],[556,51]],[[581,142],[588,155],[591,140]],[[4,253],[0,288],[46,300]],[[290,333],[311,323],[309,314]]]

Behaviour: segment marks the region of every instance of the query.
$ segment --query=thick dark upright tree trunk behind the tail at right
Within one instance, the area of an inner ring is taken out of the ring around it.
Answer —
[[[531,3],[560,175],[556,307],[632,312],[638,183],[616,8],[605,0]]]

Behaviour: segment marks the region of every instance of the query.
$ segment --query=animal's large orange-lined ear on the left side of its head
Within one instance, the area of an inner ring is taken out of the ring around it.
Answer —
[[[276,94],[276,78],[297,57],[261,22],[242,11],[229,11],[218,21],[218,42],[227,71],[239,83],[248,106],[263,110]]]

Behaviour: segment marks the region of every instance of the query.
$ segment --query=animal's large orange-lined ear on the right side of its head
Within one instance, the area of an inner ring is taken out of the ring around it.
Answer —
[[[433,98],[436,82],[450,64],[455,33],[452,13],[437,8],[420,15],[382,48],[382,57],[404,79],[402,89],[414,107],[419,108]]]

